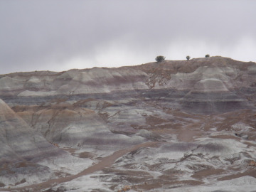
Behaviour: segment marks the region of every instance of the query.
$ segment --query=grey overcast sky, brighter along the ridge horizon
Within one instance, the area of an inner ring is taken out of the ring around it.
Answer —
[[[256,61],[253,0],[0,0],[0,74],[221,55]]]

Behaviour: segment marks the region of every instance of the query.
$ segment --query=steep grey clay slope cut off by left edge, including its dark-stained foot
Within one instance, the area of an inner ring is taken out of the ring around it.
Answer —
[[[0,100],[0,183],[16,186],[55,178],[62,166],[90,164],[50,144]],[[65,161],[63,161],[65,159]],[[64,170],[64,169],[63,169]],[[76,172],[75,166],[72,171]]]

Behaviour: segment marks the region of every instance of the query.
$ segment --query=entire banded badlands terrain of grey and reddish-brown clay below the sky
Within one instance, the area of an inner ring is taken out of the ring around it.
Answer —
[[[0,75],[0,191],[256,191],[256,63]]]

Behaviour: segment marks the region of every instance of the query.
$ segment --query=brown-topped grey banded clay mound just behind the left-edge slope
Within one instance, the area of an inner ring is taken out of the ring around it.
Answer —
[[[95,111],[78,105],[17,106],[14,110],[48,142],[61,147],[111,151],[144,142],[142,137],[113,134]]]

